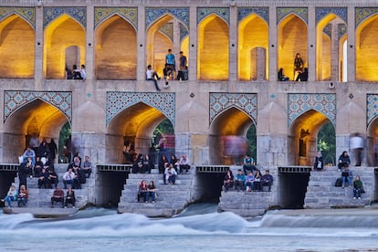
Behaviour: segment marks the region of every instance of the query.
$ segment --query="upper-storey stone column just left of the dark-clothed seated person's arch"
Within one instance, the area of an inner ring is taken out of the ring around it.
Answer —
[[[268,64],[269,76],[268,80],[278,80],[278,55],[277,55],[277,9],[269,7],[269,41],[268,41]]]

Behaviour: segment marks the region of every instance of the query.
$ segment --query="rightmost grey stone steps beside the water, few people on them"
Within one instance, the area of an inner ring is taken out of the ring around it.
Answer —
[[[353,178],[360,175],[365,194],[361,199],[353,199],[352,187],[336,187],[335,181],[341,177],[337,167],[326,167],[324,172],[311,172],[307,186],[304,208],[363,207],[373,198],[373,167],[351,167]],[[352,180],[353,182],[353,180]]]

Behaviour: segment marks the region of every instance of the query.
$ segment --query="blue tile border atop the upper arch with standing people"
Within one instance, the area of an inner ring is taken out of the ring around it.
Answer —
[[[172,7],[172,8],[146,8],[146,30],[159,18],[169,14],[180,20],[184,26],[189,29],[189,8]]]

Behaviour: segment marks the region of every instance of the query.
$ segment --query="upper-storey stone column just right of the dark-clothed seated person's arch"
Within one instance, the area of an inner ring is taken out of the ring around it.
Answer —
[[[309,68],[309,81],[316,80],[316,19],[315,7],[309,6],[309,24],[307,26],[307,57]]]

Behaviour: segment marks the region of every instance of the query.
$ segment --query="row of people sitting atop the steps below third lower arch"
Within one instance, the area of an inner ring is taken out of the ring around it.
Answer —
[[[269,173],[269,170],[265,170],[265,175],[261,175],[259,170],[257,170],[256,173],[249,171],[247,175],[245,175],[241,169],[238,169],[234,177],[232,171],[228,169],[223,185],[225,192],[232,187],[235,187],[237,192],[261,192],[264,186],[267,186],[270,192],[272,184],[273,176]]]

